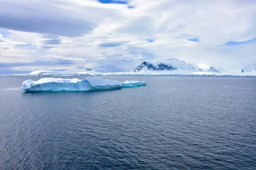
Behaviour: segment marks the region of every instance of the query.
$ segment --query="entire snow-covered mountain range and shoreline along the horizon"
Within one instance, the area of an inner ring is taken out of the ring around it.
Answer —
[[[106,76],[106,75],[171,75],[171,76],[256,76],[256,64],[245,67],[239,73],[221,73],[214,67],[203,71],[198,65],[171,58],[163,61],[148,59],[140,63],[134,71],[101,73],[90,68],[72,69],[65,71],[38,70],[28,74],[14,74],[12,76]]]

